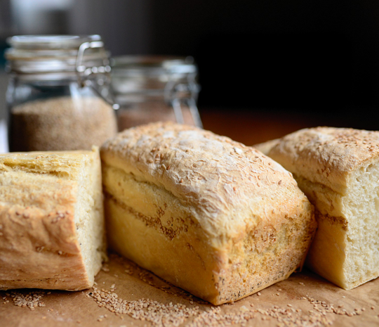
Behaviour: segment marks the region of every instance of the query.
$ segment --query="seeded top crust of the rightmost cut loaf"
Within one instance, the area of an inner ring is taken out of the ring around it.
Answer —
[[[379,158],[379,132],[335,127],[300,129],[272,143],[267,154],[293,174],[345,193],[350,173]]]

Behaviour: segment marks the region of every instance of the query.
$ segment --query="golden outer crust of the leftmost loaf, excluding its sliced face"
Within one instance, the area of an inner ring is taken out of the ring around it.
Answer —
[[[74,217],[88,155],[94,153],[1,155],[0,289],[92,286]]]

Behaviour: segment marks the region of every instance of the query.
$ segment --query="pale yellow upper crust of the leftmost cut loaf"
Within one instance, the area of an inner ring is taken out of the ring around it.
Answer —
[[[55,210],[56,205],[72,205],[73,185],[77,184],[86,157],[96,151],[97,148],[1,154],[1,205],[39,207],[46,212]],[[26,189],[29,192],[21,191]]]

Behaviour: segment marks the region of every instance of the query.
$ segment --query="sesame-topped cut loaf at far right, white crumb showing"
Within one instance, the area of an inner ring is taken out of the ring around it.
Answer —
[[[317,127],[258,145],[316,207],[307,264],[349,290],[379,276],[379,132]]]

